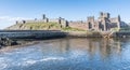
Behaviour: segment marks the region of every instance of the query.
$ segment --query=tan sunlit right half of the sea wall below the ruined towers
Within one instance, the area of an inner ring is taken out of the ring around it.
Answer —
[[[66,31],[67,37],[84,38],[128,38],[130,31]]]

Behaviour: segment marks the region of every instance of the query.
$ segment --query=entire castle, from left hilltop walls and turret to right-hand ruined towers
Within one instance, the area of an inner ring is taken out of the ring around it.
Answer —
[[[46,17],[46,14],[42,15],[42,19],[32,19],[32,20],[21,20],[16,22],[16,24],[26,24],[26,23],[57,23],[62,27],[73,27],[73,28],[79,28],[83,30],[100,30],[100,31],[108,31],[112,28],[118,28],[120,29],[121,20],[120,16],[117,17],[110,17],[109,13],[100,13],[100,16],[98,19],[94,19],[94,16],[90,16],[87,18],[86,22],[79,20],[79,22],[68,22],[65,18],[58,17],[58,18],[48,18]]]

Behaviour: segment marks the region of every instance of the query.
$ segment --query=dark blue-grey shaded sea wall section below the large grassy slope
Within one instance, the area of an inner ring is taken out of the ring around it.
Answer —
[[[65,37],[66,33],[60,30],[0,30],[0,37],[6,38],[58,38]]]

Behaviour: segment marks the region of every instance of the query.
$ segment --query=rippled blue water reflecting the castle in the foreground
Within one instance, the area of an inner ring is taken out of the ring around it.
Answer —
[[[0,70],[130,70],[130,39],[56,39],[0,52]]]

